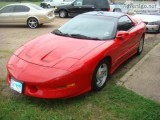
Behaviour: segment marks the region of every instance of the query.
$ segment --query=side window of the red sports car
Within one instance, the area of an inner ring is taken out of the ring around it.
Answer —
[[[123,16],[119,19],[118,30],[128,31],[132,27],[133,27],[133,23],[127,16]]]

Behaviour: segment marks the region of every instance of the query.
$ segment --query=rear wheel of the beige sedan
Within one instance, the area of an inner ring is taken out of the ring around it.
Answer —
[[[29,18],[27,20],[28,27],[35,29],[39,26],[38,20],[36,18]]]

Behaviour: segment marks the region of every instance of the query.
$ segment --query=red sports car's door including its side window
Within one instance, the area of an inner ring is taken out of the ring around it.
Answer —
[[[114,61],[116,66],[133,55],[133,51],[138,43],[138,31],[136,25],[128,16],[122,16],[119,18],[117,31],[126,31],[128,35],[126,35],[123,39],[116,39],[116,46],[118,46],[114,53]]]

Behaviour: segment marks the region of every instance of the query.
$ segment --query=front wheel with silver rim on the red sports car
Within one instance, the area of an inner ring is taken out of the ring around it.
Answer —
[[[93,78],[91,83],[92,90],[99,91],[106,85],[108,73],[109,73],[108,66],[109,66],[108,61],[105,59],[102,60],[97,65],[93,73]]]

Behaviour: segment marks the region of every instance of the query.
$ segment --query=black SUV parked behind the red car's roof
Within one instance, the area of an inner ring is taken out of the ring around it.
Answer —
[[[109,11],[108,0],[75,0],[69,5],[56,7],[55,14],[65,18],[76,16],[89,11]]]

